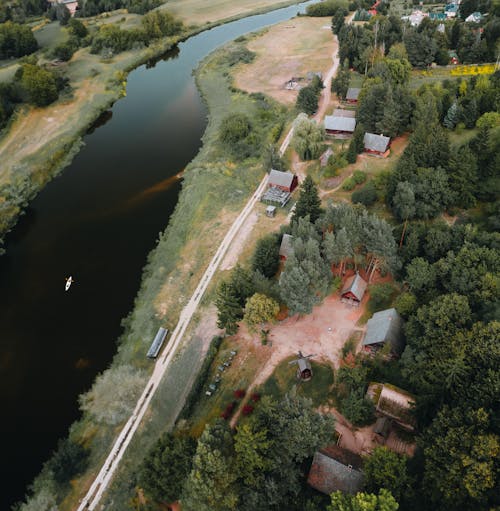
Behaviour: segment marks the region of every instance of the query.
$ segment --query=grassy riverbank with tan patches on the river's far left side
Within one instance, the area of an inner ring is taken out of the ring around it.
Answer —
[[[61,66],[70,80],[71,92],[43,109],[20,108],[0,138],[0,255],[5,235],[29,202],[71,163],[82,146],[83,136],[99,116],[126,95],[130,71],[160,58],[200,32],[295,3],[266,0],[249,12],[243,2],[241,11],[234,13],[233,7],[228,16],[224,2],[219,2],[210,23],[190,25],[181,35],[156,41],[147,48],[123,52],[109,60],[92,55],[89,48],[76,52],[69,63]],[[164,7],[168,9],[169,3]],[[189,20],[186,6],[178,11]]]

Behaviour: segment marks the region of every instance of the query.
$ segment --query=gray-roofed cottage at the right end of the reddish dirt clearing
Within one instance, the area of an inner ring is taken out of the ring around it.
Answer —
[[[380,349],[389,343],[391,351],[402,353],[404,343],[402,339],[403,320],[397,310],[386,309],[376,312],[366,325],[366,335],[363,346],[368,350]]]

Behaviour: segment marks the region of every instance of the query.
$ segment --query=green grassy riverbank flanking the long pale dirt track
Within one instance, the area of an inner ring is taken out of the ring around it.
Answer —
[[[157,248],[149,256],[134,311],[124,322],[125,333],[121,337],[113,368],[123,365],[133,365],[137,369],[151,367],[144,357],[147,344],[160,324],[173,328],[177,322],[186,297],[196,287],[206,262],[263,175],[260,147],[276,141],[288,120],[284,107],[262,96],[248,95],[232,88],[228,77],[230,64],[226,57],[228,52],[240,49],[241,43],[229,45],[224,52],[213,54],[197,72],[198,85],[210,109],[203,148],[186,169],[176,211],[169,227],[160,236]],[[218,143],[219,124],[228,113],[234,111],[243,112],[251,119],[259,148],[252,157],[238,162],[233,161]],[[179,261],[182,263],[179,264]],[[205,297],[204,303],[209,302],[210,298]],[[214,318],[213,314],[211,317]],[[145,432],[137,440],[137,450],[134,449],[134,439],[128,453],[133,467],[137,466],[138,454],[144,455],[147,447],[171,425],[179,407],[182,407],[185,396],[178,395],[179,386],[186,392],[189,390],[205,349],[204,341],[196,335],[195,328],[196,322],[193,322],[189,335],[185,337],[185,346],[175,362],[178,369],[169,372],[161,384],[150,412],[151,417],[142,426]],[[203,328],[205,335],[207,331],[208,327]],[[72,426],[71,442],[87,447],[90,461],[85,474],[73,480],[71,489],[64,492],[66,497],[61,510],[74,509],[82,489],[90,484],[119,427],[120,424],[99,424],[91,414],[85,414],[81,421]],[[115,484],[120,488],[118,495],[130,495],[130,481],[128,475],[117,477]],[[121,485],[128,490],[124,492]],[[50,474],[45,471],[38,479],[37,487],[48,487],[53,491]],[[59,495],[62,497],[62,494]],[[112,501],[116,507],[106,509],[124,509],[123,499],[115,495]]]

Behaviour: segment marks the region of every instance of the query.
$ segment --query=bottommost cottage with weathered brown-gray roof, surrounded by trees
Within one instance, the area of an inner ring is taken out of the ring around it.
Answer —
[[[335,491],[353,495],[363,487],[361,467],[360,456],[336,445],[331,445],[314,454],[307,482],[326,495]]]

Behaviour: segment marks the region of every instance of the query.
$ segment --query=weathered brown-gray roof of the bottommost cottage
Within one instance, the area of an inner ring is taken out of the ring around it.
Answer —
[[[363,474],[354,466],[318,451],[314,454],[307,482],[327,495],[338,490],[354,494],[363,486]]]

